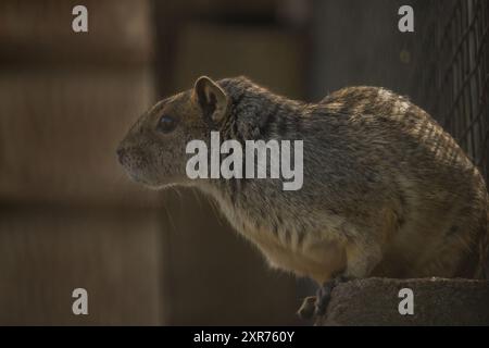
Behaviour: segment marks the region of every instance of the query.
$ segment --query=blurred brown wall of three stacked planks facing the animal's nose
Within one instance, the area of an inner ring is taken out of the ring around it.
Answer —
[[[84,1],[88,34],[75,4],[0,4],[0,324],[162,324],[158,199],[114,156],[154,101],[149,3]]]

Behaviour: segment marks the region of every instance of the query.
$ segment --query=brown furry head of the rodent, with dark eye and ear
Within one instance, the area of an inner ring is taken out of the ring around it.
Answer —
[[[205,140],[229,112],[229,97],[202,76],[192,89],[159,101],[133,125],[117,148],[118,161],[136,182],[151,188],[186,184],[186,145]]]

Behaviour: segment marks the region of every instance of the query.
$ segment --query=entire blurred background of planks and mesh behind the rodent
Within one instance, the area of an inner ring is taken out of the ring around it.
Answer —
[[[130,183],[117,142],[203,74],[306,101],[375,85],[429,111],[487,178],[488,33],[485,0],[2,0],[0,324],[300,324],[308,281],[267,270],[199,192]]]

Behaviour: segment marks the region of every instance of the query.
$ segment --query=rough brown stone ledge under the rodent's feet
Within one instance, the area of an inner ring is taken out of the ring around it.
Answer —
[[[399,290],[414,295],[414,314],[401,315]],[[366,278],[338,285],[316,325],[489,325],[489,282]]]

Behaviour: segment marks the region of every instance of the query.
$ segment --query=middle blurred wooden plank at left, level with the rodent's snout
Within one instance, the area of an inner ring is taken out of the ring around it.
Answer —
[[[151,72],[0,73],[0,199],[152,204],[115,149],[154,102]]]

